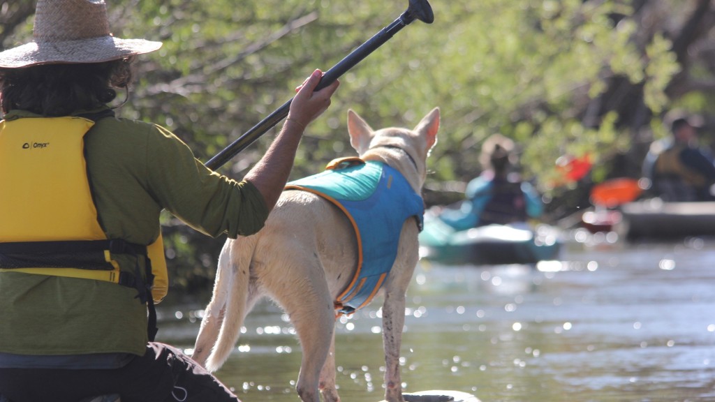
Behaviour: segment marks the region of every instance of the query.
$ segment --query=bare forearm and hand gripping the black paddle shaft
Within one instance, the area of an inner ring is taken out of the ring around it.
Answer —
[[[288,117],[280,133],[261,160],[244,177],[244,180],[254,185],[263,195],[269,211],[275,206],[288,180],[303,130],[330,106],[330,97],[339,85],[335,81],[324,89],[313,92],[320,82],[320,77],[322,72],[315,70],[302,86],[297,88],[297,94],[290,103]]]

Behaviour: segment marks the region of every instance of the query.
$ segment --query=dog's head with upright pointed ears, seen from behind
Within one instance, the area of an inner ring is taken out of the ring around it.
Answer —
[[[377,131],[352,110],[347,111],[350,145],[363,160],[375,160],[399,170],[415,192],[427,176],[427,157],[437,143],[440,109],[435,107],[412,129],[389,127]]]

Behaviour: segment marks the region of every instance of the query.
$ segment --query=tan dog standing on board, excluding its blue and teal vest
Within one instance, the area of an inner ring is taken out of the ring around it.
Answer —
[[[412,131],[375,132],[352,110],[347,114],[350,144],[360,158],[402,172],[417,194],[439,123],[435,108]],[[405,220],[397,258],[380,290],[385,300],[385,399],[390,402],[403,401],[400,343],[405,292],[419,258],[418,232],[415,219]],[[228,240],[223,247],[194,360],[210,371],[220,368],[238,340],[245,316],[267,295],[290,316],[300,339],[302,362],[296,388],[302,401],[320,402],[319,388],[324,401],[340,401],[335,389],[335,300],[355,276],[357,243],[345,213],[325,198],[301,190],[283,192],[260,232]]]

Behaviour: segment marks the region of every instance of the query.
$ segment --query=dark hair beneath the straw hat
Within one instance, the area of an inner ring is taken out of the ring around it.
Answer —
[[[46,117],[91,110],[117,97],[113,88],[132,81],[133,58],[89,64],[43,64],[0,69],[0,108],[27,110]]]

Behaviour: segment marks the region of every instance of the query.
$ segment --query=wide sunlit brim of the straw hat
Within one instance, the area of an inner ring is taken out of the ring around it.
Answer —
[[[21,68],[39,64],[102,63],[135,54],[154,52],[162,42],[119,39],[114,36],[59,42],[30,42],[0,52],[0,67]]]

